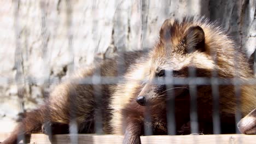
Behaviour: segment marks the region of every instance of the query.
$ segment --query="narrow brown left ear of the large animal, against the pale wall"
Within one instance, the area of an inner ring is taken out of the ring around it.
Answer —
[[[173,19],[167,19],[164,23],[162,23],[161,29],[160,29],[160,40],[164,43],[170,43],[171,42],[171,31],[172,31],[172,23]]]

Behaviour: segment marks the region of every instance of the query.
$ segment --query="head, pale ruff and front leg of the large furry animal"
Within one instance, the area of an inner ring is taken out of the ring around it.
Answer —
[[[145,129],[143,127],[152,128],[153,134],[166,134],[168,99],[175,99],[177,130],[187,123],[193,89],[189,85],[174,85],[171,98],[167,97],[166,85],[155,81],[164,79],[167,73],[172,73],[174,78],[193,75],[189,69],[196,70],[194,76],[199,77],[211,77],[212,71],[215,71],[216,76],[223,79],[254,79],[245,55],[214,23],[206,19],[168,19],[162,25],[160,39],[149,52],[148,58],[129,68],[125,75],[126,81],[119,84],[110,101],[114,133],[125,134],[125,143],[140,143],[139,136],[144,134]],[[240,88],[241,112],[245,116],[256,107],[256,89],[252,85],[241,85]],[[219,85],[218,90],[221,133],[235,133],[235,86]],[[196,87],[199,130],[205,134],[213,133],[212,93],[210,85]],[[145,113],[150,113],[151,121],[144,118]]]

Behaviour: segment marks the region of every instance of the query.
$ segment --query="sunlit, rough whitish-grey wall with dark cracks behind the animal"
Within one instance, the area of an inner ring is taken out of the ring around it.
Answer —
[[[248,55],[256,48],[255,0],[6,0],[0,5],[2,125],[42,103],[51,84],[86,67],[97,53],[152,47],[168,17],[205,15],[218,20]]]

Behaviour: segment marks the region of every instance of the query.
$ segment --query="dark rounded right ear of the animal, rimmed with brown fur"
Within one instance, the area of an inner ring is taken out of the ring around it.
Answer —
[[[193,26],[187,30],[185,37],[188,53],[196,50],[205,51],[205,32],[200,26]]]

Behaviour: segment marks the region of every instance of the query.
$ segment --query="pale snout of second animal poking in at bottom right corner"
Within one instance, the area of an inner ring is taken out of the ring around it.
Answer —
[[[242,134],[256,134],[256,109],[250,112],[247,116],[241,119],[237,124],[238,129]]]

